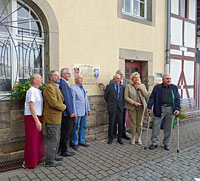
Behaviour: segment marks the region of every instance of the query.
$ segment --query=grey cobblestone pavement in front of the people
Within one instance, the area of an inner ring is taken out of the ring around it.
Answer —
[[[180,126],[180,153],[177,150],[177,131],[173,129],[171,150],[160,143],[155,150],[144,150],[144,145],[124,145],[106,140],[91,142],[81,147],[73,157],[65,157],[62,166],[37,166],[34,171],[17,169],[0,173],[0,181],[28,180],[194,180],[200,178],[200,119],[188,120]],[[150,130],[151,135],[151,130]],[[143,132],[145,142],[146,131]],[[149,136],[150,144],[150,136]]]

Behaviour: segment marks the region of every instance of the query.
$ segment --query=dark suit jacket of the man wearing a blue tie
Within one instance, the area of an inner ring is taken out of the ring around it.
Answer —
[[[121,112],[124,111],[124,86],[120,85],[119,99],[114,87],[114,83],[108,84],[104,92],[104,99],[107,102],[107,109],[109,112],[117,111],[117,108]]]

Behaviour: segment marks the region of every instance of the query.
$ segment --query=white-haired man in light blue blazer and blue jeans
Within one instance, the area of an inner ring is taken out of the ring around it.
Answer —
[[[78,144],[84,147],[89,146],[89,144],[85,143],[85,134],[87,127],[87,115],[90,115],[90,105],[87,92],[83,87],[83,77],[81,75],[75,76],[75,84],[71,87],[71,90],[74,104],[74,114],[77,116],[77,120],[74,122],[73,127],[72,148],[78,150]]]

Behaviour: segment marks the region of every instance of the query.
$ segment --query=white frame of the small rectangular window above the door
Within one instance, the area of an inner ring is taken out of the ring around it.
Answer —
[[[126,0],[122,0],[122,14],[125,14],[125,15],[128,15],[128,16],[132,16],[132,17],[137,17],[137,18],[141,18],[141,19],[147,19],[147,0],[144,0],[144,17],[143,16],[140,16],[140,3],[143,3],[141,2],[141,0],[130,0],[130,11],[131,12],[126,12],[125,11],[125,1]],[[139,15],[135,14],[134,13],[134,2],[137,1],[138,4],[139,4]]]

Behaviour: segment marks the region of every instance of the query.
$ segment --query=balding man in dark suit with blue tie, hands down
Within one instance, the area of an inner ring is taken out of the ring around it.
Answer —
[[[104,98],[107,102],[107,109],[109,115],[108,128],[108,144],[113,142],[114,127],[118,125],[117,141],[122,142],[123,132],[123,111],[124,111],[124,87],[120,85],[121,77],[119,74],[114,75],[113,83],[106,86]]]

